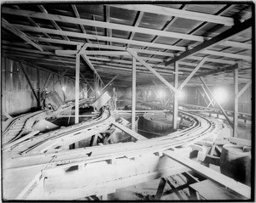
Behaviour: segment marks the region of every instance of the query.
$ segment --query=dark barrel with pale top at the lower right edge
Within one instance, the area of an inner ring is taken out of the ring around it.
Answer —
[[[251,185],[251,149],[225,144],[220,155],[220,172]]]

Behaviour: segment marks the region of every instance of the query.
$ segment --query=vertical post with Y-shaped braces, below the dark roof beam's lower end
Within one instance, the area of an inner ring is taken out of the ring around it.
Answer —
[[[174,88],[175,93],[173,93],[173,116],[172,116],[172,126],[173,130],[177,130],[177,86],[178,86],[178,62],[174,63]]]

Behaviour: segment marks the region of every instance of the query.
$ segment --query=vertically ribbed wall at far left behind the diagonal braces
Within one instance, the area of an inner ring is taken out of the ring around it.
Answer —
[[[26,80],[24,72],[20,68],[20,64],[14,60],[2,57],[1,67],[2,111],[5,111],[10,116],[15,116],[37,109],[37,99],[32,93],[32,89]],[[49,72],[24,64],[23,67],[37,94],[44,89],[45,84],[48,90],[55,90],[62,100],[70,101],[75,99],[75,83],[73,80],[62,76],[58,80],[59,77],[57,75],[50,74],[49,80],[46,82]],[[87,87],[82,84],[80,85],[80,98],[86,97]]]

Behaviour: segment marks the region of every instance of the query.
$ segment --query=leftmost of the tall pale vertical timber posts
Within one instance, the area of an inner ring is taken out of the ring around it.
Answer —
[[[80,73],[80,54],[76,54],[76,82],[75,82],[75,124],[79,123],[79,73]]]

